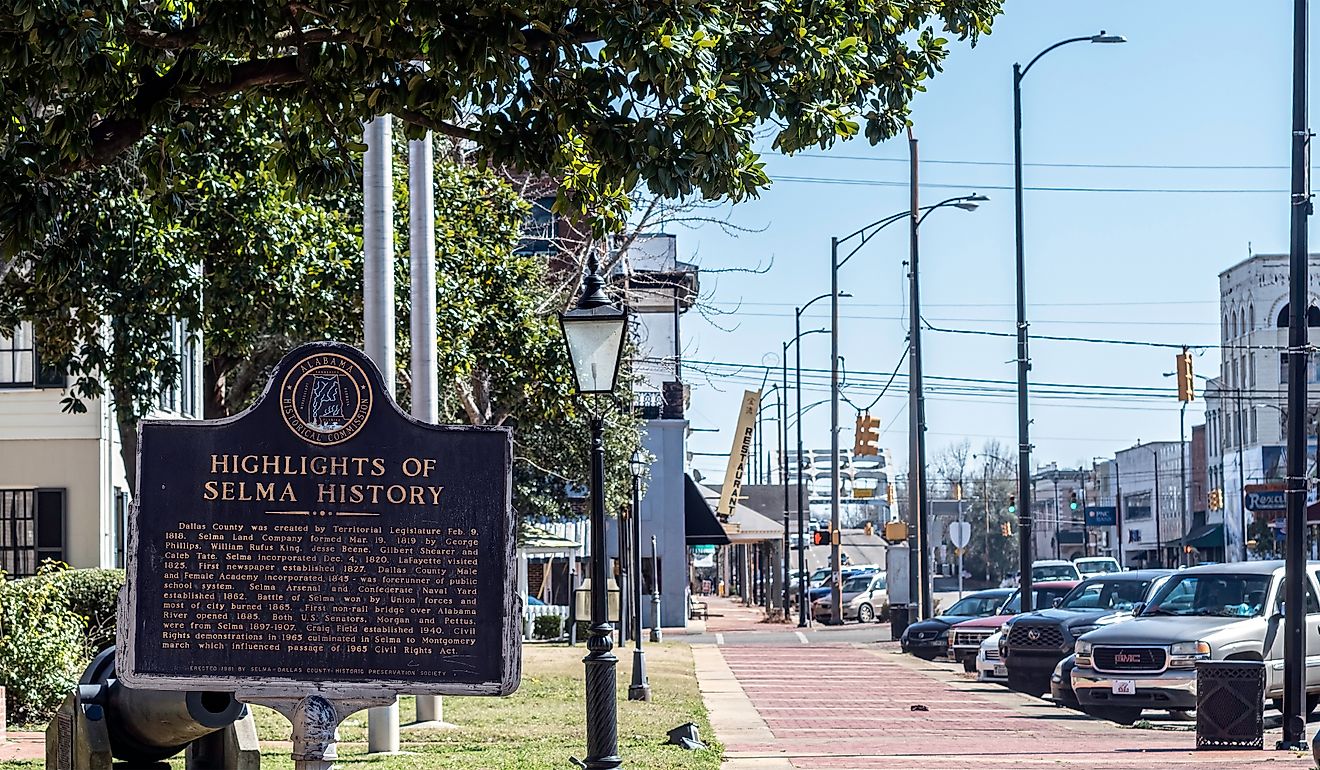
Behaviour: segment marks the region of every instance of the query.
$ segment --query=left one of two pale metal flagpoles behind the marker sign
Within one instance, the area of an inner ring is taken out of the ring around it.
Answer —
[[[395,391],[395,201],[389,116],[367,123],[362,161],[363,337],[389,395]],[[399,752],[399,701],[367,709],[367,752]]]

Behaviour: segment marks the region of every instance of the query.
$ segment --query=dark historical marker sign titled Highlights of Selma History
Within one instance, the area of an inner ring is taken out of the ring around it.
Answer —
[[[119,671],[137,687],[504,695],[517,687],[511,433],[403,413],[302,346],[226,420],[139,445]]]

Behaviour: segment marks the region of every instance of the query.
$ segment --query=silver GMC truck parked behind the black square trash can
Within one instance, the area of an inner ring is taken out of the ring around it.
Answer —
[[[1307,711],[1320,705],[1320,563],[1307,565]],[[1263,660],[1266,697],[1283,695],[1283,561],[1193,567],[1137,617],[1076,642],[1073,692],[1092,716],[1131,724],[1142,709],[1196,708],[1197,660]]]

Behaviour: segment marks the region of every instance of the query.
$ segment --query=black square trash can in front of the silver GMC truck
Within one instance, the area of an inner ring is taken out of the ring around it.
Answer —
[[[1196,748],[1265,748],[1265,663],[1197,662]]]

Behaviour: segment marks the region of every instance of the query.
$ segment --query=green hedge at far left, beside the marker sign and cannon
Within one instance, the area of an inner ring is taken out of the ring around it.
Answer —
[[[50,717],[92,655],[115,643],[121,569],[45,564],[34,577],[0,573],[0,685],[15,724]]]

